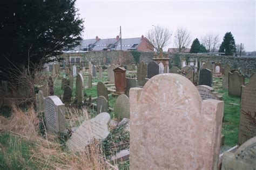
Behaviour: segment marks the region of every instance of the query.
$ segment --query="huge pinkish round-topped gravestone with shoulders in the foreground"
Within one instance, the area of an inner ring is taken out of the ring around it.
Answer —
[[[179,74],[131,88],[130,169],[217,169],[223,110]]]

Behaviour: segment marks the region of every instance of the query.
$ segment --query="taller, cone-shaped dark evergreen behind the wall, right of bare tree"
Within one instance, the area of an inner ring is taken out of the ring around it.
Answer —
[[[234,55],[237,48],[235,48],[235,40],[231,32],[226,32],[223,42],[221,42],[219,52],[225,55]]]

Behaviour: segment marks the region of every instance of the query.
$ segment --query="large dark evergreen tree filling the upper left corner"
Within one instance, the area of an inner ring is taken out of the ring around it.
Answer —
[[[1,1],[0,72],[55,60],[66,46],[82,39],[83,20],[76,16],[76,0]]]

